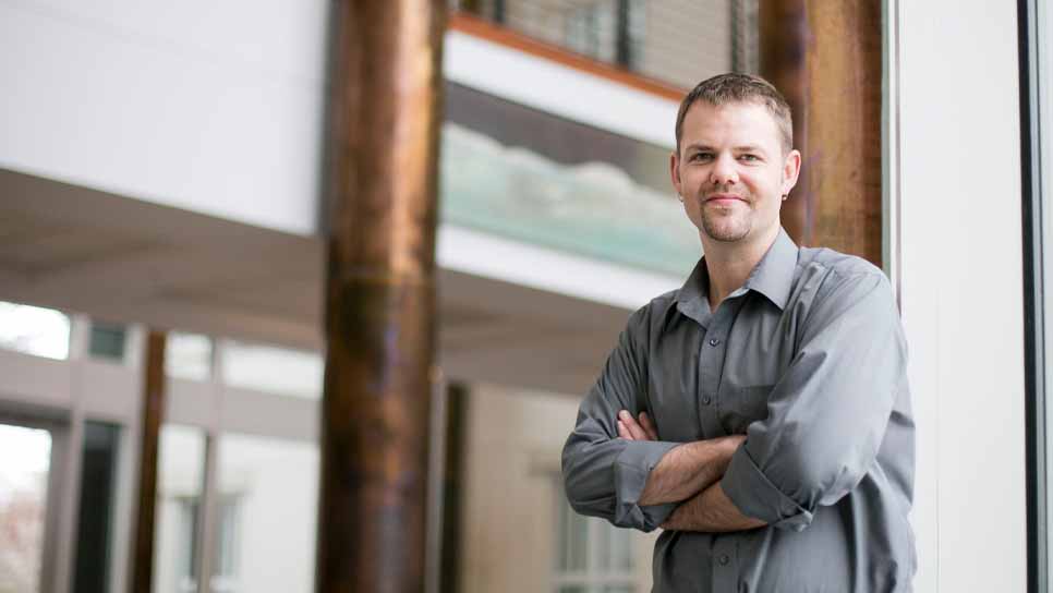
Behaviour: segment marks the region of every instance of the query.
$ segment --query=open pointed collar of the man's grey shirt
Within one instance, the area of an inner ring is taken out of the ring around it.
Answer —
[[[785,229],[779,228],[775,242],[750,273],[746,285],[740,290],[760,292],[775,306],[785,308],[794,286],[798,252],[799,249],[794,240]],[[704,255],[677,293],[677,308],[699,323],[703,323],[703,319],[709,317],[710,273],[705,267]]]

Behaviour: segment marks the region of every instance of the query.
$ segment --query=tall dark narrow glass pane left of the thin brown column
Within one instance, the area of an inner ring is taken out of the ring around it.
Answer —
[[[81,517],[77,522],[73,585],[77,593],[108,591],[119,437],[120,428],[116,425],[84,423]]]

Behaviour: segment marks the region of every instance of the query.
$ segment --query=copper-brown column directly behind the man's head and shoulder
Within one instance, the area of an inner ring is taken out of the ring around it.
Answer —
[[[765,0],[761,75],[794,109],[801,179],[783,206],[799,243],[881,265],[881,2]]]

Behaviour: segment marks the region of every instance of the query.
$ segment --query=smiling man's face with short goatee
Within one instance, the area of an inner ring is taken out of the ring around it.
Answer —
[[[797,183],[800,153],[783,155],[778,125],[760,104],[692,105],[673,185],[703,241],[749,243],[779,226],[783,196]]]

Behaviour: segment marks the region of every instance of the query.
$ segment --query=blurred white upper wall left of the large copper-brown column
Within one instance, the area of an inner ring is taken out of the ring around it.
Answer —
[[[328,5],[0,0],[0,167],[311,234]]]

